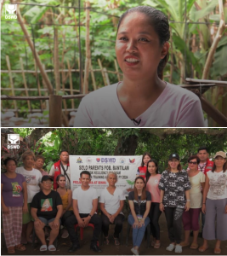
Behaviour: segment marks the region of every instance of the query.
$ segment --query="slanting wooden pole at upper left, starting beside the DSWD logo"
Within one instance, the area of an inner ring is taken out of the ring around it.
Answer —
[[[18,8],[17,8],[17,20],[20,23],[22,31],[24,32],[24,35],[25,35],[26,40],[27,40],[27,43],[29,44],[29,46],[31,48],[31,52],[32,52],[34,58],[37,60],[37,67],[39,68],[40,73],[42,75],[42,78],[43,78],[43,80],[44,80],[44,82],[45,82],[45,84],[46,84],[46,86],[48,88],[48,92],[49,92],[49,94],[53,94],[53,86],[52,86],[52,84],[50,83],[50,81],[48,79],[47,73],[45,73],[45,71],[43,69],[42,62],[40,61],[39,55],[37,55],[37,51],[34,49],[33,44],[31,42],[31,38],[29,36],[29,33],[28,33],[27,29],[26,29],[25,24],[23,23],[22,16],[20,15],[19,4],[18,4]]]

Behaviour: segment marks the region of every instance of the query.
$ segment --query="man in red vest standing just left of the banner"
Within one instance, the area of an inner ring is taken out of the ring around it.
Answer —
[[[65,187],[71,189],[71,169],[69,163],[69,153],[65,150],[60,152],[60,160],[54,163],[49,171],[49,176],[54,178],[54,189],[58,189],[56,178],[63,174],[66,177]]]

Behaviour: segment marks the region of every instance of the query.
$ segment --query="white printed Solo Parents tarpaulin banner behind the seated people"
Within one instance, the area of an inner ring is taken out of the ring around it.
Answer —
[[[115,172],[118,177],[116,187],[128,195],[133,189],[141,161],[142,155],[70,155],[71,189],[74,190],[81,185],[80,173],[88,171],[92,179],[89,185],[94,187],[100,195],[101,190],[108,186],[107,174]]]

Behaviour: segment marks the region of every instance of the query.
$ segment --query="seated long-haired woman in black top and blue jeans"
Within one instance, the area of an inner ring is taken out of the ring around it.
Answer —
[[[145,190],[145,179],[136,177],[134,191],[128,195],[128,203],[131,212],[128,215],[128,223],[133,226],[133,248],[132,253],[139,255],[139,247],[145,236],[146,226],[150,223],[148,214],[150,212],[151,195]]]

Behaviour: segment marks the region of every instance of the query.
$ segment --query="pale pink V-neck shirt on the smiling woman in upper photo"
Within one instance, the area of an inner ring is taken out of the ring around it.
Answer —
[[[118,83],[117,83],[118,84]],[[190,90],[169,84],[150,108],[140,114],[139,125],[128,118],[117,96],[117,84],[94,90],[82,98],[75,127],[204,127],[201,102]]]

